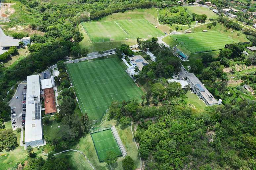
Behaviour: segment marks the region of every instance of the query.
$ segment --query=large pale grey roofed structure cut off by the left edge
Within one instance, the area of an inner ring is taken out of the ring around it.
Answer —
[[[19,47],[19,39],[14,39],[11,36],[6,36],[0,27],[0,55],[8,51],[10,47]]]

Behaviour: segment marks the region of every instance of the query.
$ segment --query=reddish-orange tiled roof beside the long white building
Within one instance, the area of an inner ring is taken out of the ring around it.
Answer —
[[[57,112],[53,88],[44,89],[44,108],[45,114]]]

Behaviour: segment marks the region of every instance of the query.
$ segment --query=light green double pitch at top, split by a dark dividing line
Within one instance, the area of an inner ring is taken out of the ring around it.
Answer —
[[[146,19],[129,19],[106,22],[81,23],[92,42],[116,41],[163,36],[164,33],[155,28]]]

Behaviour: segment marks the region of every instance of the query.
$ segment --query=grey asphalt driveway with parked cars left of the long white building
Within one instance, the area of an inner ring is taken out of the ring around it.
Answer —
[[[17,125],[16,128],[21,128],[21,112],[22,112],[22,101],[23,101],[23,95],[22,93],[26,92],[26,89],[23,89],[24,85],[26,85],[26,81],[22,82],[21,84],[18,85],[17,90],[13,96],[13,98],[9,101],[9,106],[10,107],[16,107],[15,112],[16,112],[16,118],[15,122],[17,122],[14,125]],[[16,99],[16,96],[18,96],[18,99]],[[11,114],[11,111],[10,111]],[[13,128],[15,130],[16,128]]]

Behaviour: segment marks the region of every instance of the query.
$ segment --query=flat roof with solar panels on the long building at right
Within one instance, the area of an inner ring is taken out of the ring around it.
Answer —
[[[216,104],[218,101],[212,96],[212,94],[207,90],[207,88],[201,83],[201,81],[194,75],[194,73],[187,73],[186,76],[191,80],[193,85],[195,85],[201,92],[205,99],[212,97],[212,100],[207,100],[209,104]]]

